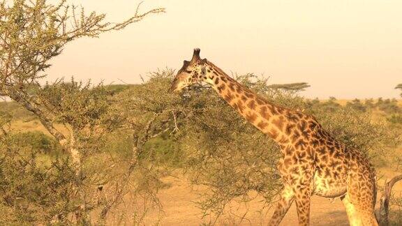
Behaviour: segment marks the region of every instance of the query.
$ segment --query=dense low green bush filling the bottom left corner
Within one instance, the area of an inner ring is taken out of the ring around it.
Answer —
[[[76,206],[71,190],[75,175],[68,158],[43,165],[39,151],[29,145],[0,143],[0,224],[65,222]]]

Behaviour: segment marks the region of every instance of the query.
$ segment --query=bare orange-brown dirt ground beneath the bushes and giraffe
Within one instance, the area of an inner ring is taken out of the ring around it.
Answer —
[[[396,175],[391,169],[380,169],[380,174],[390,178]],[[165,180],[171,187],[161,190],[159,197],[163,204],[162,216],[157,211],[150,212],[144,219],[145,225],[208,225],[211,218],[202,218],[200,209],[194,203],[198,199],[199,190],[191,186],[184,177],[169,177]],[[383,179],[379,181],[383,184]],[[402,192],[402,183],[394,186],[396,193]],[[378,195],[380,197],[380,194]],[[379,198],[378,197],[378,198]],[[377,202],[378,206],[379,202]],[[264,206],[262,197],[255,198],[248,204],[230,203],[216,225],[267,225],[273,208],[261,211]],[[378,207],[377,207],[378,208]],[[241,220],[241,216],[244,216]],[[292,204],[281,225],[297,225],[297,211]],[[311,200],[311,225],[348,225],[345,208],[340,199],[331,202],[329,199],[313,196]]]

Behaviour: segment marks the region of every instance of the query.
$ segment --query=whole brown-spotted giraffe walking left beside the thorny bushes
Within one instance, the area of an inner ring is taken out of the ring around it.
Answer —
[[[234,110],[281,149],[277,169],[283,188],[269,225],[279,225],[292,202],[299,225],[309,225],[311,195],[341,198],[350,225],[378,225],[374,216],[375,170],[359,150],[327,133],[311,115],[274,105],[229,77],[194,49],[170,87],[171,92],[206,83]]]

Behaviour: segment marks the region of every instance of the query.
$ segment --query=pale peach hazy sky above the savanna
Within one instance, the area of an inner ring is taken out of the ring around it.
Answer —
[[[139,1],[71,0],[117,22]],[[308,82],[309,98],[399,98],[402,1],[146,0],[165,7],[123,31],[75,40],[54,59],[48,80],[70,77],[140,83],[158,68],[181,68],[194,47],[230,75],[270,83]]]

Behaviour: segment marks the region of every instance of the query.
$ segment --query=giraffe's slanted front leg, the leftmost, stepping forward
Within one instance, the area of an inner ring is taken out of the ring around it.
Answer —
[[[295,195],[290,186],[285,185],[285,187],[281,191],[281,198],[276,204],[276,209],[274,211],[274,215],[272,215],[271,220],[269,220],[268,225],[279,225],[281,223],[283,217],[288,212],[290,206],[292,205],[293,200],[295,199]]]

